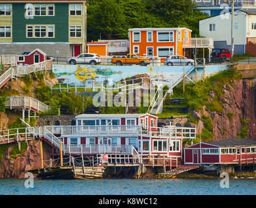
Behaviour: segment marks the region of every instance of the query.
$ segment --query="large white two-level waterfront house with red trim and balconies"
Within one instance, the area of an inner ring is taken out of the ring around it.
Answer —
[[[71,155],[132,154],[182,162],[182,140],[195,138],[195,128],[158,127],[151,114],[81,114],[76,125],[45,127],[61,138]]]

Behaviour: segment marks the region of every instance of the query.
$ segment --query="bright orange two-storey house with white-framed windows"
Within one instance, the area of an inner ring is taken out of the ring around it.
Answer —
[[[191,33],[186,27],[129,29],[130,53],[148,58],[184,55]]]

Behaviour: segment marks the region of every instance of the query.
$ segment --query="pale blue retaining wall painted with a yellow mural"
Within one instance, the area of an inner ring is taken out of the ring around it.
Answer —
[[[57,79],[63,83],[76,83],[83,85],[87,80],[102,82],[112,79],[114,82],[121,81],[137,74],[147,73],[151,77],[158,77],[164,80],[175,81],[183,75],[183,66],[91,66],[91,65],[61,65],[53,64],[53,73]],[[185,73],[191,71],[194,66],[185,66]],[[225,70],[225,65],[211,65],[205,67],[206,76],[212,75],[221,70]],[[190,73],[190,77],[195,77],[195,70]],[[203,74],[203,68],[197,68],[199,74]]]

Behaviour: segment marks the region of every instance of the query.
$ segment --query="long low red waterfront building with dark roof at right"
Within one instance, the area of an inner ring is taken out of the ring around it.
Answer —
[[[256,162],[256,139],[232,138],[184,148],[184,164],[247,164]]]

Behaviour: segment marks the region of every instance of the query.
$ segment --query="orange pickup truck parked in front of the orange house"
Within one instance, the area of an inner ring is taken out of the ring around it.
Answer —
[[[122,66],[123,64],[137,64],[141,66],[147,66],[150,64],[149,59],[138,57],[135,54],[127,54],[126,57],[113,57],[111,62],[117,66]]]

